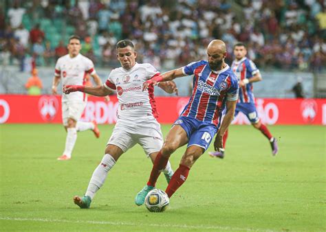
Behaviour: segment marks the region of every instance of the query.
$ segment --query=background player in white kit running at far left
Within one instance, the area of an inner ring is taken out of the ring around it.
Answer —
[[[67,84],[85,84],[85,75],[89,73],[97,85],[102,85],[102,82],[94,69],[94,64],[89,58],[79,54],[81,49],[80,38],[71,36],[68,44],[69,53],[56,62],[55,74],[52,84],[52,93],[57,93],[57,86],[62,79],[63,86]],[[69,160],[72,157],[77,132],[84,130],[93,130],[94,135],[100,137],[100,130],[96,125],[96,121],[83,122],[78,121],[85,109],[87,103],[87,95],[85,93],[72,93],[62,95],[62,117],[63,126],[67,130],[65,141],[65,150],[58,157],[58,160]]]

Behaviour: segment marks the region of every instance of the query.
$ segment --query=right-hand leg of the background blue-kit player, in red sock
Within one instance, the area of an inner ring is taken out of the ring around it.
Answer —
[[[256,106],[254,106],[254,104],[246,104],[246,107],[243,108],[243,113],[248,117],[252,126],[254,126],[254,128],[256,128],[257,130],[260,130],[261,133],[266,138],[268,138],[268,141],[270,141],[270,146],[272,147],[272,154],[275,155],[279,150],[279,147],[277,146],[277,141],[272,136],[267,126],[261,123],[261,120],[258,117]]]

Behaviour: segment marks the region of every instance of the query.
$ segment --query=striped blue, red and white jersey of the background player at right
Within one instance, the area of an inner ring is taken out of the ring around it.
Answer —
[[[241,60],[233,60],[231,65],[232,71],[237,75],[238,80],[250,79],[255,73],[259,72],[252,60],[243,57]],[[254,103],[254,87],[252,83],[246,84],[239,89],[239,100],[241,103]]]

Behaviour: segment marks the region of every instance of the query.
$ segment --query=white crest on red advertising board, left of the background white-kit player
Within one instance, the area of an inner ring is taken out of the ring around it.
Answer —
[[[54,96],[44,95],[39,99],[39,113],[44,121],[52,121],[58,113],[59,102]]]

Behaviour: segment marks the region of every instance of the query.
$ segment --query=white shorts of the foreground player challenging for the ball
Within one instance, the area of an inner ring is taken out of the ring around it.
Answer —
[[[133,132],[122,126],[116,126],[107,144],[118,146],[123,152],[139,144],[147,156],[153,152],[159,152],[163,146],[162,132],[153,129],[152,135],[148,135],[139,129],[138,126],[138,131]]]

